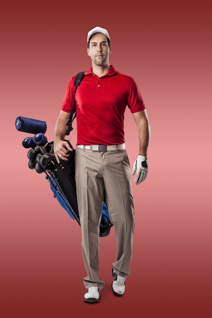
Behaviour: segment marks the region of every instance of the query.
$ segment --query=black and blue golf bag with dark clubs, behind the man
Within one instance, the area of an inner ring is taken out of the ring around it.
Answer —
[[[39,135],[43,134],[37,134],[36,136]],[[75,149],[68,140],[66,141],[72,148],[72,151],[69,151],[67,161],[61,160],[59,164],[57,163],[53,153],[53,142],[50,142],[45,146],[37,144],[28,150],[28,167],[35,169],[37,173],[45,173],[54,197],[68,212],[69,216],[75,219],[80,225],[75,183]],[[99,231],[100,237],[107,236],[111,227],[112,224],[109,219],[107,204],[103,201]]]

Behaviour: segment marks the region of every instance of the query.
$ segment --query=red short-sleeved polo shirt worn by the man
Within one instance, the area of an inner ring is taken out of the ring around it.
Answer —
[[[62,110],[71,112],[74,103],[74,80],[69,81],[62,104]],[[114,145],[125,142],[124,113],[126,107],[131,113],[145,109],[142,96],[134,79],[115,71],[98,77],[92,68],[76,91],[77,145]]]

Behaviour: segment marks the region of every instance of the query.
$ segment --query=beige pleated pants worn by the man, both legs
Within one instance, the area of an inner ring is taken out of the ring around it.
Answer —
[[[91,286],[102,289],[104,281],[98,276],[99,225],[104,196],[117,243],[117,261],[112,266],[118,275],[130,275],[134,205],[129,159],[126,150],[99,152],[77,147],[75,167],[82,256],[87,271],[83,283],[86,289]]]

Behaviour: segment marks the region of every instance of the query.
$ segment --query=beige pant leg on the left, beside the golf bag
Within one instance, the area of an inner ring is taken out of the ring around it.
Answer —
[[[101,153],[76,148],[75,178],[80,226],[82,232],[82,256],[87,272],[83,279],[86,289],[104,287],[99,273],[99,225],[104,198],[101,177]]]

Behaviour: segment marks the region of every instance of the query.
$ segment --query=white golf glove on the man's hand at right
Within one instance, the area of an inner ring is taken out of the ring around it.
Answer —
[[[142,154],[138,155],[133,164],[132,176],[135,174],[136,169],[135,183],[140,184],[145,180],[148,172],[147,158]]]

